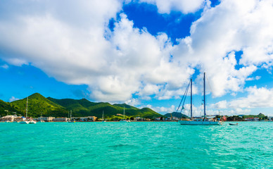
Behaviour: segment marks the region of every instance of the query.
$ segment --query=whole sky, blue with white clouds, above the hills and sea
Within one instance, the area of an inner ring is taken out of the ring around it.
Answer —
[[[165,114],[176,110],[193,78],[199,115],[206,72],[208,114],[273,115],[272,6],[269,0],[1,2],[0,99],[38,92]]]

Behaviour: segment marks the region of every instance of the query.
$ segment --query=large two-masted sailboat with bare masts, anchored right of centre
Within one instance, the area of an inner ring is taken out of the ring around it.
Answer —
[[[215,121],[205,118],[205,73],[204,73],[204,118],[195,118],[192,117],[192,79],[191,79],[191,119],[190,120],[178,120],[180,125],[222,125],[222,121]],[[186,92],[185,92],[186,93]]]

